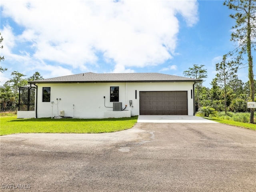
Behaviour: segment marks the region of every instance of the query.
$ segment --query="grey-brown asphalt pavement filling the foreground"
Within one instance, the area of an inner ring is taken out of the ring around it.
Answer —
[[[256,132],[219,123],[137,123],[104,134],[12,134],[1,136],[0,143],[1,191],[256,189]]]

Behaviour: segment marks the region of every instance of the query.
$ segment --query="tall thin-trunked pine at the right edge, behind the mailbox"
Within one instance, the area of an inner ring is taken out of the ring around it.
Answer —
[[[236,25],[232,28],[231,40],[238,42],[236,52],[238,52],[238,61],[243,59],[242,55],[248,57],[248,77],[250,82],[250,100],[254,101],[254,73],[252,62],[252,48],[256,42],[256,0],[226,0],[225,6],[236,11],[230,17],[236,20]],[[255,50],[255,49],[254,49]],[[250,123],[254,123],[254,109],[250,110]]]

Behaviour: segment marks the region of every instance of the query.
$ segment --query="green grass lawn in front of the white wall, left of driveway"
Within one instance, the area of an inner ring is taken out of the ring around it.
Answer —
[[[131,118],[76,119],[0,117],[0,135],[14,133],[106,133],[130,129],[138,116]]]

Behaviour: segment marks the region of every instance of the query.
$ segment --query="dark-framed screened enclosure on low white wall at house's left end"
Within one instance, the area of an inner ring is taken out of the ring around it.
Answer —
[[[17,118],[35,118],[36,86],[19,87]]]

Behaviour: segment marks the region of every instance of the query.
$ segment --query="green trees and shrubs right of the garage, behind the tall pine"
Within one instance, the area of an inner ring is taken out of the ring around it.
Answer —
[[[224,58],[225,60],[225,58]],[[216,64],[216,77],[212,79],[211,88],[199,82],[195,85],[196,111],[202,107],[214,108],[217,111],[250,112],[247,102],[250,101],[250,82],[242,82],[237,76],[237,67],[224,62]],[[207,70],[204,65],[194,64],[193,67],[183,72],[185,76],[204,81]],[[256,89],[256,80],[254,80]]]

